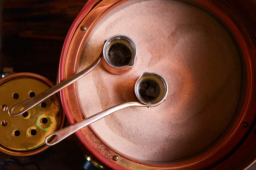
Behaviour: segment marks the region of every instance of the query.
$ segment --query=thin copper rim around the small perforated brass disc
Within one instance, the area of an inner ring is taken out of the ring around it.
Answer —
[[[27,78],[33,78],[33,79],[38,79],[44,83],[46,83],[47,85],[49,85],[49,87],[53,87],[55,84],[53,82],[51,82],[49,79],[46,79],[45,77],[42,77],[38,74],[33,74],[33,73],[15,73],[15,74],[10,74],[6,77],[3,77],[2,79],[0,79],[0,85],[2,85],[5,82],[8,82],[9,80],[15,79],[15,78],[19,78],[19,77],[27,77]],[[60,95],[57,94],[57,96],[60,99]],[[62,112],[62,119],[61,119],[61,123],[59,126],[59,129],[63,128],[64,126],[64,120],[65,120],[65,113],[64,111]],[[55,141],[57,139],[56,136],[54,136],[52,139],[50,139],[51,141]],[[2,145],[0,145],[0,151],[9,155],[13,155],[13,156],[31,156],[37,153],[40,153],[44,150],[46,150],[47,148],[49,148],[49,146],[47,146],[46,144],[42,145],[41,147],[38,147],[35,150],[29,150],[29,151],[16,151],[16,150],[10,150],[6,147],[3,147]]]

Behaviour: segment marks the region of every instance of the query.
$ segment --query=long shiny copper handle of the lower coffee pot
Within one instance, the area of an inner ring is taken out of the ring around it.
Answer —
[[[123,108],[127,108],[130,106],[148,107],[148,105],[145,105],[145,104],[142,104],[139,102],[127,102],[127,103],[113,106],[112,108],[108,108],[105,111],[97,113],[93,116],[90,116],[90,117],[80,121],[80,122],[74,123],[73,125],[67,126],[61,130],[56,131],[55,133],[50,134],[49,136],[47,136],[44,139],[44,143],[47,144],[48,146],[57,144],[58,142],[61,142],[63,139],[67,138],[67,136],[70,136],[72,133],[75,133],[77,130],[79,130],[87,125],[90,125],[91,123],[96,122],[97,120],[102,119],[103,117],[108,116],[111,113],[114,113],[116,111],[119,111]],[[52,143],[48,143],[48,139],[55,135],[57,136],[57,140]]]

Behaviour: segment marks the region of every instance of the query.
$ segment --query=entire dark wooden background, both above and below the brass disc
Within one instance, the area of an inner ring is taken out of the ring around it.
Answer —
[[[2,3],[0,68],[40,74],[56,83],[67,32],[87,0],[0,0]],[[0,162],[12,156],[0,153]],[[83,170],[84,153],[71,138],[29,157],[41,170]],[[9,165],[1,170],[36,170]]]

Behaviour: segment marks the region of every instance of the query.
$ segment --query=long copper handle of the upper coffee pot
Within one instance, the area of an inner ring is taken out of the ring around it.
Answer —
[[[17,103],[16,105],[13,105],[8,110],[9,115],[12,117],[20,116],[21,114],[25,113],[26,111],[28,111],[29,109],[31,109],[32,107],[37,105],[38,103],[42,102],[47,97],[52,96],[52,94],[57,93],[58,91],[67,87],[68,85],[71,85],[73,82],[80,79],[81,77],[84,77],[86,74],[90,73],[90,71],[92,71],[93,68],[95,68],[99,64],[101,58],[102,58],[102,49],[101,49],[97,59],[89,67],[85,68],[83,71],[80,71],[79,73],[75,74],[74,76],[70,77],[69,79],[66,79],[63,82],[60,82],[59,84],[55,85],[54,87],[49,88],[47,91],[44,91],[41,94],[38,94],[35,97],[32,97],[30,99],[26,99],[23,102]],[[12,111],[17,107],[23,107],[23,110],[19,111],[17,113],[12,113]]]

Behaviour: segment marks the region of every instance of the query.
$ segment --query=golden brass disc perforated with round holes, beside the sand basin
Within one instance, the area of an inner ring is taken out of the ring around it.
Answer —
[[[63,125],[61,102],[56,94],[45,99],[22,116],[12,117],[8,108],[49,89],[46,82],[33,77],[13,77],[0,81],[0,144],[10,150],[34,150],[44,138]]]

